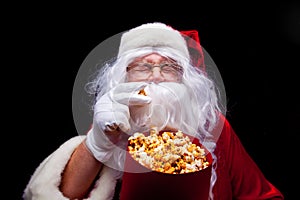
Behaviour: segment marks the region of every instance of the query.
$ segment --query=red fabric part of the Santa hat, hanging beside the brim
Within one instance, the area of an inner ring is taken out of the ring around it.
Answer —
[[[198,31],[186,30],[186,31],[180,31],[180,33],[182,34],[182,36],[185,38],[187,42],[193,65],[205,71],[204,54],[200,44]]]

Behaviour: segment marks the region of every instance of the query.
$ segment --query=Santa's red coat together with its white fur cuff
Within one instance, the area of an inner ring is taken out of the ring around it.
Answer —
[[[24,199],[68,199],[59,190],[61,174],[72,152],[84,138],[85,136],[76,136],[66,141],[38,166],[24,190]],[[215,154],[215,200],[284,199],[282,193],[266,179],[245,151],[227,120],[217,142]],[[114,169],[105,166],[87,199],[112,200],[114,193],[118,192],[115,173]]]

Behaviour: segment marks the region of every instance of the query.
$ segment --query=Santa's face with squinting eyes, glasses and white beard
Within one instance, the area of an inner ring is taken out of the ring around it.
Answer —
[[[182,83],[182,72],[182,67],[175,60],[158,53],[136,58],[129,64],[127,81],[148,82],[145,91],[152,98],[147,106],[130,107],[131,127],[138,129],[133,128],[134,131],[146,131],[156,126],[159,130],[184,129],[195,132],[198,126],[196,98],[193,91]]]

